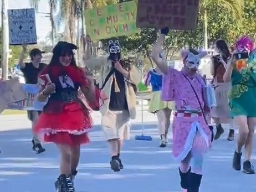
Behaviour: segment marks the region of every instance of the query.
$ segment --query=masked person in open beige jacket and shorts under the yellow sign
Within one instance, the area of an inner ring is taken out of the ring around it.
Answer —
[[[136,118],[136,85],[140,74],[130,61],[121,60],[119,41],[109,41],[109,56],[93,58],[91,40],[85,38],[85,66],[100,72],[99,87],[106,96],[100,106],[101,126],[110,146],[110,167],[119,172],[124,165],[120,159],[124,140],[130,139],[130,120]]]

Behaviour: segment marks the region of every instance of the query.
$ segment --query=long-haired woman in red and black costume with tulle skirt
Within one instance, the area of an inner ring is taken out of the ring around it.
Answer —
[[[74,191],[80,144],[89,143],[88,131],[93,126],[88,108],[78,98],[78,90],[83,92],[91,109],[99,107],[93,80],[76,66],[74,49],[74,44],[60,41],[53,49],[50,64],[39,75],[40,79],[49,75],[51,82],[37,96],[39,102],[48,101],[35,131],[43,136],[43,141],[53,142],[59,148],[60,176],[55,182],[59,192]]]

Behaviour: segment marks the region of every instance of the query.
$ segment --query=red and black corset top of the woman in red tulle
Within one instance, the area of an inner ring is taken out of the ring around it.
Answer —
[[[88,87],[89,80],[85,77],[84,71],[77,66],[48,66],[40,75],[48,74],[50,80],[55,84],[56,91],[51,94],[47,105],[44,106],[44,113],[60,113],[66,107],[81,107],[78,98],[79,87]]]

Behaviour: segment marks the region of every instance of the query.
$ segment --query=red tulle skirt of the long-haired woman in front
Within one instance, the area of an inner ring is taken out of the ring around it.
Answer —
[[[93,127],[89,110],[80,103],[70,103],[59,113],[42,113],[35,123],[34,132],[44,142],[69,144],[89,143],[88,132]]]

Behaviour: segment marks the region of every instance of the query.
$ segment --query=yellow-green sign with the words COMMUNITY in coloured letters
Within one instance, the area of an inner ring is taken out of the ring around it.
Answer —
[[[136,32],[137,4],[135,1],[111,4],[85,11],[87,34],[99,40]]]

